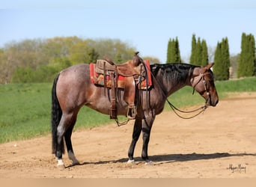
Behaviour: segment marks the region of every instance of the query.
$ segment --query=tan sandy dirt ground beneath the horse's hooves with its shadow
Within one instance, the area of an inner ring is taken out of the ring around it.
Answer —
[[[192,120],[172,111],[156,117],[144,165],[141,138],[127,164],[132,122],[73,132],[81,165],[56,166],[50,135],[0,144],[0,178],[252,178],[256,177],[256,93],[233,94]],[[232,169],[231,169],[232,168]]]

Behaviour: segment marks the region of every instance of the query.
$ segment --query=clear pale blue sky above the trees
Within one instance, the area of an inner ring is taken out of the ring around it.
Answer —
[[[256,37],[255,0],[0,0],[0,47],[36,38],[110,38],[165,63],[171,38],[189,61],[192,34],[212,49],[228,37],[235,55],[243,32]]]

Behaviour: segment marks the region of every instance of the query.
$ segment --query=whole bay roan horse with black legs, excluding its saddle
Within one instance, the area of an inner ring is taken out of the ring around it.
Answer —
[[[156,114],[160,114],[165,101],[171,93],[192,86],[206,100],[206,105],[215,106],[219,97],[210,70],[213,64],[197,67],[191,64],[153,64],[150,65],[153,86],[148,91],[136,91],[137,114],[133,126],[132,142],[128,150],[128,162],[134,162],[135,144],[142,132],[141,158],[150,163],[147,147],[150,130]],[[95,86],[90,80],[89,64],[78,64],[58,73],[52,86],[52,153],[58,159],[58,165],[64,167],[62,154],[64,140],[69,159],[73,165],[79,164],[73,153],[71,134],[76,123],[79,109],[87,105],[103,114],[109,114],[109,93],[104,96],[104,88]],[[124,90],[117,102],[118,115],[127,115],[127,102],[124,102]],[[138,99],[139,98],[139,99]]]

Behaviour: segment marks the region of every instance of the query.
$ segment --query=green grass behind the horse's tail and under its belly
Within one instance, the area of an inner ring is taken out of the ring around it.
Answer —
[[[0,85],[0,143],[50,132],[52,84]],[[83,107],[76,128],[109,123],[109,116]]]

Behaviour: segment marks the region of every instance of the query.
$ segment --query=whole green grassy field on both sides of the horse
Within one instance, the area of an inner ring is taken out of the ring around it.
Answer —
[[[0,85],[0,144],[49,134],[51,88],[52,83]],[[228,92],[255,92],[256,77],[216,82],[216,89],[220,98]],[[169,100],[177,107],[204,104],[201,96],[192,95],[191,87],[177,91]],[[83,107],[75,130],[113,122],[108,115]]]

